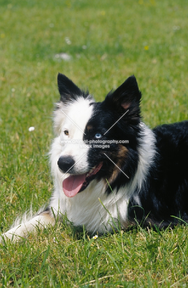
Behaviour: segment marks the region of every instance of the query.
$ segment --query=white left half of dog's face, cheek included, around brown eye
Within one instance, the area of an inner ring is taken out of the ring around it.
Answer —
[[[93,100],[92,100],[93,102]],[[84,154],[84,156],[73,166],[72,171],[76,174],[84,174],[88,172],[87,165],[87,152],[88,148],[81,148],[81,143],[62,143],[62,141],[71,140],[83,140],[84,129],[88,120],[92,115],[92,105],[91,98],[87,98],[86,100],[83,97],[79,97],[77,101],[71,103],[68,107],[61,106],[59,111],[57,111],[57,115],[55,116],[55,128],[56,132],[58,132],[58,137],[55,139],[53,143],[53,147],[51,149],[51,154],[53,154],[54,150],[58,150],[58,154],[55,154],[51,157],[52,167],[57,166],[57,161],[60,156],[69,156],[77,162]],[[67,115],[65,115],[62,111]],[[64,111],[65,110],[65,111]],[[59,121],[59,117],[61,121]],[[71,119],[71,120],[70,120]],[[77,126],[80,128],[78,128]],[[68,130],[69,135],[65,135],[64,131]],[[54,157],[54,158],[53,158]],[[58,167],[57,167],[58,168]],[[52,168],[52,171],[54,169]],[[62,174],[61,174],[62,177]]]

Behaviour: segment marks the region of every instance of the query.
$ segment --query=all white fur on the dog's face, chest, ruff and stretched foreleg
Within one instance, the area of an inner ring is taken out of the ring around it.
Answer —
[[[88,120],[92,115],[92,105],[89,105],[91,98],[78,98],[77,101],[70,105],[64,106],[59,104],[59,109],[55,111],[54,129],[56,138],[53,141],[50,158],[51,169],[54,177],[54,192],[50,200],[50,206],[53,208],[55,216],[58,211],[73,222],[75,226],[83,226],[90,232],[105,232],[111,231],[114,226],[111,217],[117,222],[118,219],[123,227],[128,225],[127,207],[131,197],[140,205],[139,192],[146,182],[148,169],[153,162],[155,151],[155,137],[152,130],[145,124],[141,123],[142,142],[139,147],[139,161],[137,171],[131,183],[119,189],[118,193],[114,190],[113,193],[107,195],[105,193],[106,183],[104,180],[91,181],[88,187],[72,198],[68,198],[63,193],[62,172],[59,170],[57,161],[60,156],[68,156],[74,158],[75,162],[80,159],[84,153],[84,157],[75,164],[74,171],[78,174],[86,173],[90,170],[87,163],[88,148],[80,148],[79,144],[61,143],[61,140],[66,139],[83,139],[83,132]],[[92,100],[93,102],[93,100]],[[79,128],[69,120],[68,117],[61,111],[67,114],[73,122],[79,125]],[[64,130],[69,131],[69,135],[65,135]],[[135,194],[135,191],[137,192]],[[103,205],[101,204],[101,202]],[[105,207],[105,208],[104,208]],[[16,226],[3,234],[4,237],[17,240],[19,237],[26,237],[29,232],[35,229],[36,226],[46,227],[49,223],[54,225],[55,219],[51,210],[48,213],[43,212],[30,220],[23,221],[22,224]]]

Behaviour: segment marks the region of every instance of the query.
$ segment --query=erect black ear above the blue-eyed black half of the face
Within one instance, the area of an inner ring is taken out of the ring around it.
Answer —
[[[141,92],[134,75],[125,80],[114,92],[109,92],[106,96],[108,103],[111,103],[118,110],[131,109],[139,112]]]

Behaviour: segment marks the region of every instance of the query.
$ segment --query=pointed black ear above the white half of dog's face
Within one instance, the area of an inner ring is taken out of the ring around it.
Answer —
[[[68,77],[59,73],[57,76],[58,90],[62,102],[70,102],[76,100],[79,96],[83,96],[80,90]]]

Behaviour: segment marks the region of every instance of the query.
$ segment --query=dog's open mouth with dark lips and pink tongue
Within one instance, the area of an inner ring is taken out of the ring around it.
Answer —
[[[63,180],[63,192],[67,197],[74,197],[88,187],[89,183],[95,178],[96,173],[102,167],[102,162],[94,166],[88,173],[81,175],[70,175]]]

